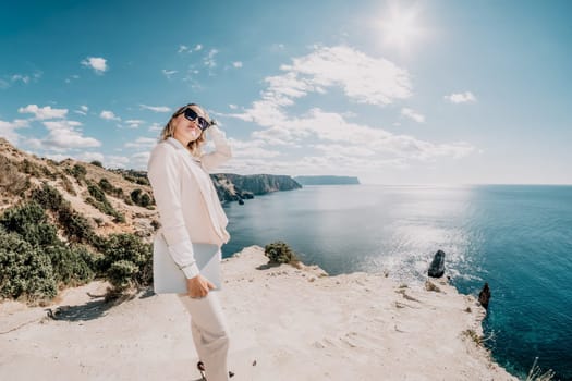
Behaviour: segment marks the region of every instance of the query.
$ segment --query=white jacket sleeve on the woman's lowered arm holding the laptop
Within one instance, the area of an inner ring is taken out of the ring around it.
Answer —
[[[198,275],[199,270],[181,207],[179,165],[177,151],[167,144],[159,144],[149,159],[147,176],[159,209],[159,219],[169,253],[185,276],[194,278]]]

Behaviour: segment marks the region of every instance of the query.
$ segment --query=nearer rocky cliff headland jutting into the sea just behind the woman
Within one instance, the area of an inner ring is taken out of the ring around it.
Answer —
[[[215,173],[210,177],[221,201],[240,201],[253,198],[254,195],[302,187],[294,179],[287,175]]]

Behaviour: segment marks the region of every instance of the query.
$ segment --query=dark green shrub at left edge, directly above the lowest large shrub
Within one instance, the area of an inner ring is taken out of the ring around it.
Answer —
[[[44,209],[36,202],[22,204],[4,210],[0,224],[7,232],[14,232],[33,246],[60,243],[56,228],[48,223]]]

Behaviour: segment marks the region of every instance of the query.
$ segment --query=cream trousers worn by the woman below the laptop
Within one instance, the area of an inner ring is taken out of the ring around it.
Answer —
[[[218,292],[193,299],[178,294],[179,299],[191,315],[191,331],[199,359],[205,364],[208,381],[229,380],[227,355],[229,352],[229,329],[220,306]]]

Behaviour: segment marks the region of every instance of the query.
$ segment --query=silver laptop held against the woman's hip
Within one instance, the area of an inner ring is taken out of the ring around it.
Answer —
[[[218,291],[222,286],[219,247],[212,244],[193,244],[200,275]],[[169,254],[162,234],[157,234],[153,245],[153,287],[156,294],[186,294],[186,276]]]

